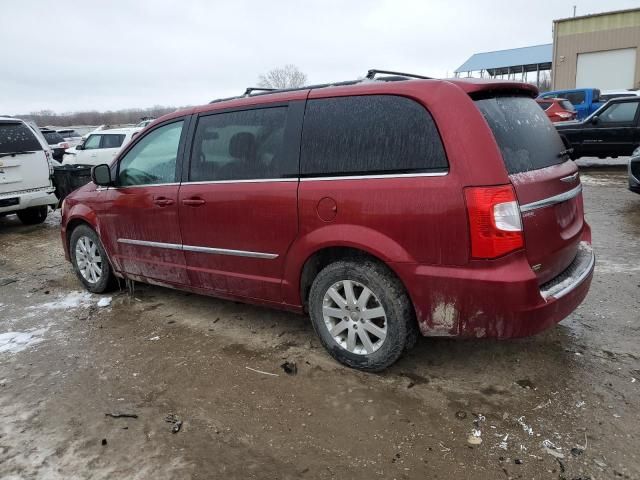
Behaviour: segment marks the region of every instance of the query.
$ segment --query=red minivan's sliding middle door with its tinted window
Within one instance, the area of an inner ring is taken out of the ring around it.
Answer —
[[[302,102],[291,102],[199,118],[179,194],[193,286],[282,301],[298,229],[302,112]]]

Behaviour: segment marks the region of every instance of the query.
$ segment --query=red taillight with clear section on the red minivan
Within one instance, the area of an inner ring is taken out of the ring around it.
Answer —
[[[496,258],[524,246],[520,207],[511,185],[469,187],[464,194],[473,258]]]

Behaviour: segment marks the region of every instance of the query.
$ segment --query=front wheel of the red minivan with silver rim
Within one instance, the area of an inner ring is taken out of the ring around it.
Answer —
[[[87,225],[79,225],[69,239],[71,263],[78,279],[92,293],[110,290],[115,277],[107,254],[96,232]]]

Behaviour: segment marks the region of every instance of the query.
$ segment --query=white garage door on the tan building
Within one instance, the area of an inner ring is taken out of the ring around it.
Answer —
[[[576,88],[633,88],[635,71],[635,48],[579,53]]]

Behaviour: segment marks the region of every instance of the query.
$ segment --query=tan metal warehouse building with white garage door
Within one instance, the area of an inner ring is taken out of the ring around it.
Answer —
[[[553,89],[640,88],[640,8],[553,22]]]

